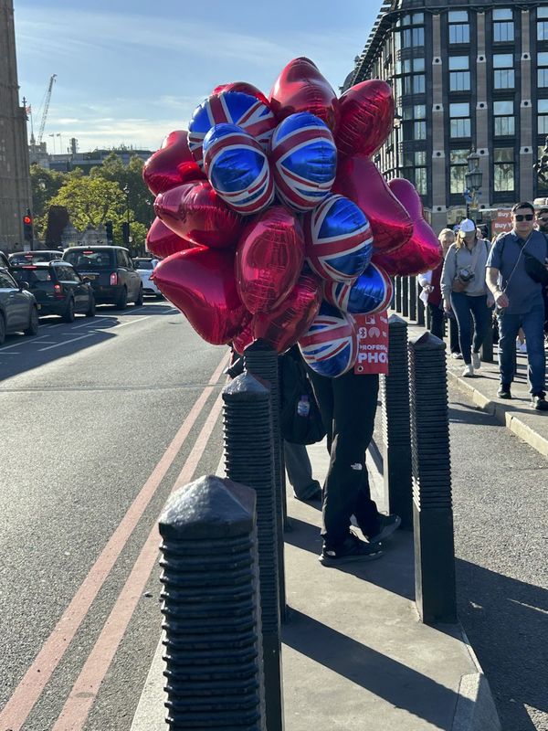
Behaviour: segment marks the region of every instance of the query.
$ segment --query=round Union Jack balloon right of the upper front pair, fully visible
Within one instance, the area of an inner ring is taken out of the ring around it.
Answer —
[[[287,206],[310,211],[331,193],[337,148],[327,124],[309,111],[290,114],[279,123],[269,158],[276,193]]]

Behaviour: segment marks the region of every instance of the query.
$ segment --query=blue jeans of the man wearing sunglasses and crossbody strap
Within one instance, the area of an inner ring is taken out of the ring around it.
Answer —
[[[544,357],[544,308],[535,307],[530,313],[499,312],[499,367],[501,383],[510,386],[515,373],[516,337],[520,327],[527,343],[527,377],[532,394],[543,393],[546,376]]]

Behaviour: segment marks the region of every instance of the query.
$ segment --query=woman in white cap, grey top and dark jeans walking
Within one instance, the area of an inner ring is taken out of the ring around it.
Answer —
[[[457,240],[448,250],[441,275],[444,309],[457,318],[465,377],[473,376],[481,367],[479,350],[490,327],[493,298],[483,274],[489,250],[489,241],[478,238],[476,224],[465,218]]]

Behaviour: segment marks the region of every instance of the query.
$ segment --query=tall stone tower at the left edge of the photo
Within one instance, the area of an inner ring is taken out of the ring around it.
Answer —
[[[12,0],[0,0],[0,249],[23,248],[23,216],[32,208],[26,113],[19,102]]]

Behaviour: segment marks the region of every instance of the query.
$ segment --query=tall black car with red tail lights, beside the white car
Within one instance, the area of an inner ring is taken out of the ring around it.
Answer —
[[[142,281],[133,268],[128,249],[75,246],[65,249],[63,260],[90,280],[96,302],[111,302],[119,310],[125,310],[128,302],[142,305]]]

